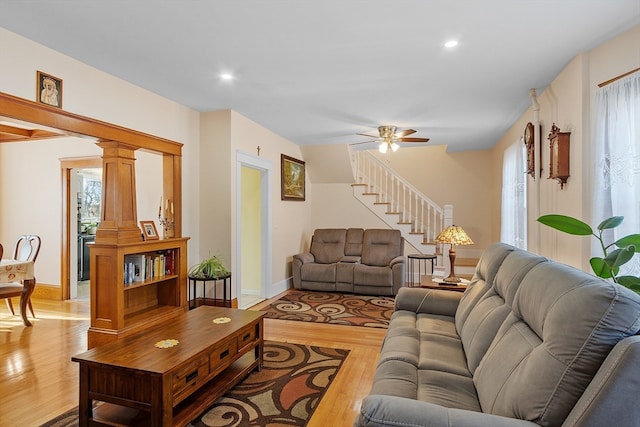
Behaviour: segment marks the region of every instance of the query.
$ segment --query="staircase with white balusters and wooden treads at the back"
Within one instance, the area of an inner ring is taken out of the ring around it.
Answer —
[[[444,265],[448,274],[448,246],[443,256],[435,239],[453,224],[453,206],[438,206],[368,151],[352,151],[351,165],[354,197],[389,227],[400,230],[418,253],[437,255],[437,265]],[[476,263],[477,259],[456,259],[456,275],[471,278]]]

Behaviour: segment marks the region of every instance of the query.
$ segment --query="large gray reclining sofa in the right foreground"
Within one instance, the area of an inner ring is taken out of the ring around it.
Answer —
[[[403,288],[355,426],[638,426],[640,297],[505,244]]]

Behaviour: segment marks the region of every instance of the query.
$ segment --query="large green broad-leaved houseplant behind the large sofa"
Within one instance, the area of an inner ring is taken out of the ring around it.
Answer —
[[[602,257],[589,260],[594,274],[603,279],[612,279],[615,283],[640,293],[640,277],[618,275],[620,266],[629,262],[636,252],[640,252],[640,234],[630,234],[609,244],[606,244],[603,238],[605,230],[618,227],[623,220],[622,216],[605,219],[598,225],[596,234],[589,224],[570,216],[554,214],[538,218],[538,222],[567,234],[594,236],[603,253]]]

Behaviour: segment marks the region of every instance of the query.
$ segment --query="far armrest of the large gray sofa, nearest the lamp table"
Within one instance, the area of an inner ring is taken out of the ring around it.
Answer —
[[[444,289],[401,288],[396,296],[396,310],[455,316],[462,292]]]

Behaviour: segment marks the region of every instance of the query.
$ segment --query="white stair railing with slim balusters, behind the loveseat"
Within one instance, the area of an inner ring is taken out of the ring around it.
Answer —
[[[386,213],[397,214],[398,224],[410,225],[423,243],[435,242],[445,225],[443,208],[367,151],[352,151],[352,168],[356,184],[366,187],[363,193],[376,195],[374,203],[388,204]]]

